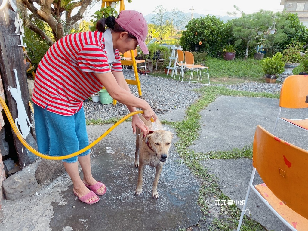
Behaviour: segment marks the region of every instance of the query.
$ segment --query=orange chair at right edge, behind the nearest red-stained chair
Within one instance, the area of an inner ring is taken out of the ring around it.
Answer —
[[[273,134],[275,134],[278,120],[282,120],[297,128],[308,132],[308,118],[287,119],[280,117],[282,107],[286,108],[308,108],[306,96],[308,95],[308,76],[290,75],[282,83],[279,99],[279,111],[275,122]],[[308,149],[308,146],[306,150]]]

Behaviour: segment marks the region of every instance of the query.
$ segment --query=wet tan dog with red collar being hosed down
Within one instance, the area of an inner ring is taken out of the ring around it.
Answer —
[[[163,165],[169,156],[169,148],[173,138],[172,132],[162,130],[163,127],[157,119],[155,123],[147,121],[140,115],[141,120],[150,129],[147,136],[136,130],[136,152],[135,167],[138,167],[138,183],[135,194],[138,196],[142,193],[142,174],[145,165],[156,167],[155,178],[152,187],[152,197],[158,199],[157,184]]]

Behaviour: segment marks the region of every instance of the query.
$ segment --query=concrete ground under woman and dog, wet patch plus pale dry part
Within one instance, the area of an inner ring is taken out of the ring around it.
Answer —
[[[90,142],[110,126],[87,126]],[[173,144],[177,141],[174,136]],[[149,166],[144,170],[143,193],[135,196],[135,137],[131,123],[125,122],[91,149],[92,174],[107,186],[99,202],[86,205],[79,201],[64,173],[50,185],[40,186],[34,195],[3,201],[0,230],[176,231],[197,224],[202,216],[197,205],[200,184],[186,165],[180,164],[174,145],[158,182],[159,199],[151,197],[155,170]]]

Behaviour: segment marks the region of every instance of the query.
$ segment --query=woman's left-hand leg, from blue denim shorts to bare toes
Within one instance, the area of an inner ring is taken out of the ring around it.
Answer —
[[[81,117],[84,117],[83,110],[81,113],[77,112],[77,115],[63,116],[49,112],[46,108],[41,108],[36,104],[34,104],[34,108],[35,128],[37,138],[39,138],[37,139],[39,152],[51,156],[63,156],[79,150],[79,138],[75,132],[75,125],[77,123],[78,126],[78,121],[75,121],[75,119],[79,114],[81,114]],[[82,148],[87,146],[87,131],[85,125],[83,127],[83,131],[79,130],[79,133],[85,133],[83,135],[85,138],[83,138],[84,144]],[[87,155],[89,152],[90,151],[88,150],[84,152],[83,155]],[[83,184],[83,181],[79,176],[77,156],[63,160],[63,164],[65,170],[73,181],[74,193],[77,194],[79,198],[89,193],[90,190]],[[98,197],[94,196],[86,201],[91,202],[96,201],[97,199]]]

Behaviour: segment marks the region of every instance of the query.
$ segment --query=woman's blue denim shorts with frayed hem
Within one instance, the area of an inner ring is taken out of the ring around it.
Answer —
[[[34,103],[35,134],[40,153],[65,156],[78,152],[89,144],[83,107],[70,116],[58,115],[46,108]],[[89,153],[90,149],[78,156]],[[74,156],[62,161],[75,163],[77,159],[77,156]]]

